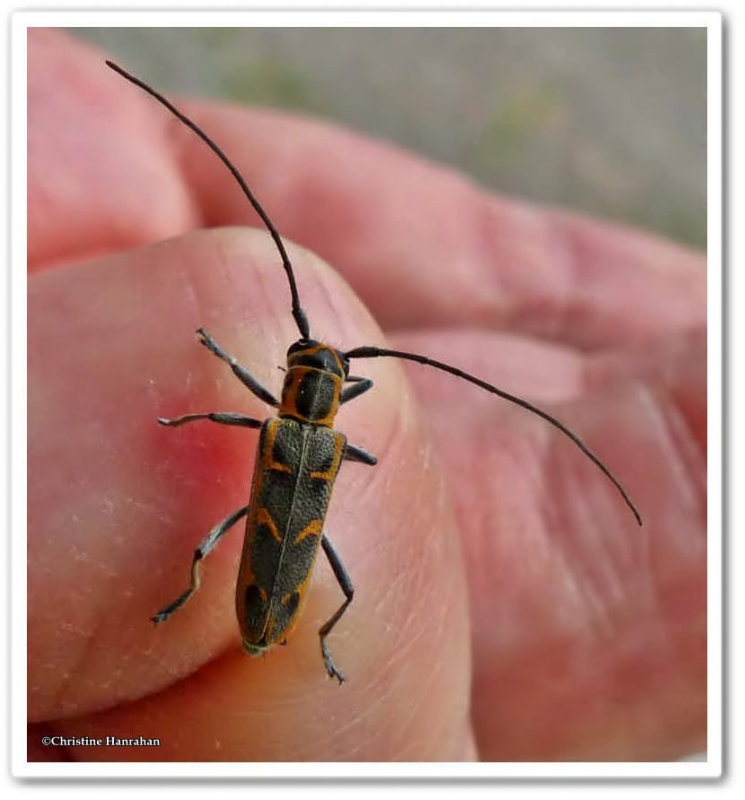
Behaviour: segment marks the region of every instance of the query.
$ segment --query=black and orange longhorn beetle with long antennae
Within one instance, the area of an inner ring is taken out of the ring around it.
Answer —
[[[249,504],[215,525],[194,552],[191,581],[188,589],[152,618],[159,623],[181,608],[199,588],[199,564],[222,536],[246,517],[243,555],[238,569],[235,607],[243,648],[250,655],[260,655],[275,644],[284,644],[300,615],[318,546],[323,548],[331,569],[344,592],[345,600],[321,626],[323,663],[329,677],[342,683],[344,677],[334,666],[326,637],[347,610],[354,596],[352,581],[323,532],[323,523],[334,480],[342,461],[358,461],[375,465],[377,459],[360,447],[350,444],[344,434],[333,429],[334,417],[343,403],[359,397],[372,387],[369,378],[350,375],[349,362],[354,358],[381,356],[416,361],[449,372],[458,378],[509,400],[538,414],[565,436],[606,475],[631,509],[636,521],[641,516],[623,486],[608,467],[559,420],[540,408],[490,383],[469,375],[457,367],[443,364],[427,356],[362,346],[346,352],[312,339],[308,318],[300,305],[295,275],[284,243],[264,209],[248,188],[245,180],[223,151],[194,122],[179,111],[159,92],[130,75],[111,61],[106,64],[123,78],[143,89],[191,128],[230,170],[243,193],[261,217],[279,251],[287,274],[292,299],[292,316],[300,338],[287,351],[287,370],[282,399],[265,389],[236,359],[207,333],[197,330],[199,342],[230,365],[238,380],[260,400],[277,408],[277,416],[261,421],[242,414],[211,412],[184,414],[174,419],[160,418],[162,425],[175,427],[196,420],[211,420],[222,425],[260,428],[256,466]]]

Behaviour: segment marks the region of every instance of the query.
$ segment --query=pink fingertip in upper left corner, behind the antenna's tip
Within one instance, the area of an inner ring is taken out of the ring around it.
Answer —
[[[100,51],[28,32],[28,262],[37,271],[197,227],[163,115]]]

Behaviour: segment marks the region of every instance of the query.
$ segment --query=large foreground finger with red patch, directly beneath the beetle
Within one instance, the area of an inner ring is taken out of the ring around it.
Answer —
[[[377,333],[332,273],[293,256],[314,333]],[[55,720],[62,734],[161,739],[147,752],[72,748],[72,758],[464,758],[470,667],[458,536],[396,366],[369,365],[376,391],[339,419],[350,441],[380,457],[375,468],[344,465],[327,520],[356,587],[329,637],[347,677],[339,687],[317,630],[343,596],[322,559],[298,628],[264,658],[238,649],[240,531],[205,559],[194,598],[158,628],[149,622],[185,588],[206,531],[247,500],[254,432],[170,430],[155,419],[266,415],[193,331],[204,325],[262,383],[279,384],[297,332],[268,237],[195,234],[49,271],[29,288],[31,719]]]

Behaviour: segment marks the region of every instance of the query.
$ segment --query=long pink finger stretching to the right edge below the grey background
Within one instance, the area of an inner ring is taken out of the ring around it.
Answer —
[[[581,347],[705,319],[703,258],[637,231],[491,196],[392,146],[274,112],[189,106],[280,231],[342,272],[386,328],[483,326]],[[204,215],[251,212],[198,143]]]

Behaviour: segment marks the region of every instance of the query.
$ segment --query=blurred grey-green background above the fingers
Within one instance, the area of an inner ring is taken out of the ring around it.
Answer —
[[[292,109],[494,192],[706,246],[703,28],[75,28],[170,94]]]

